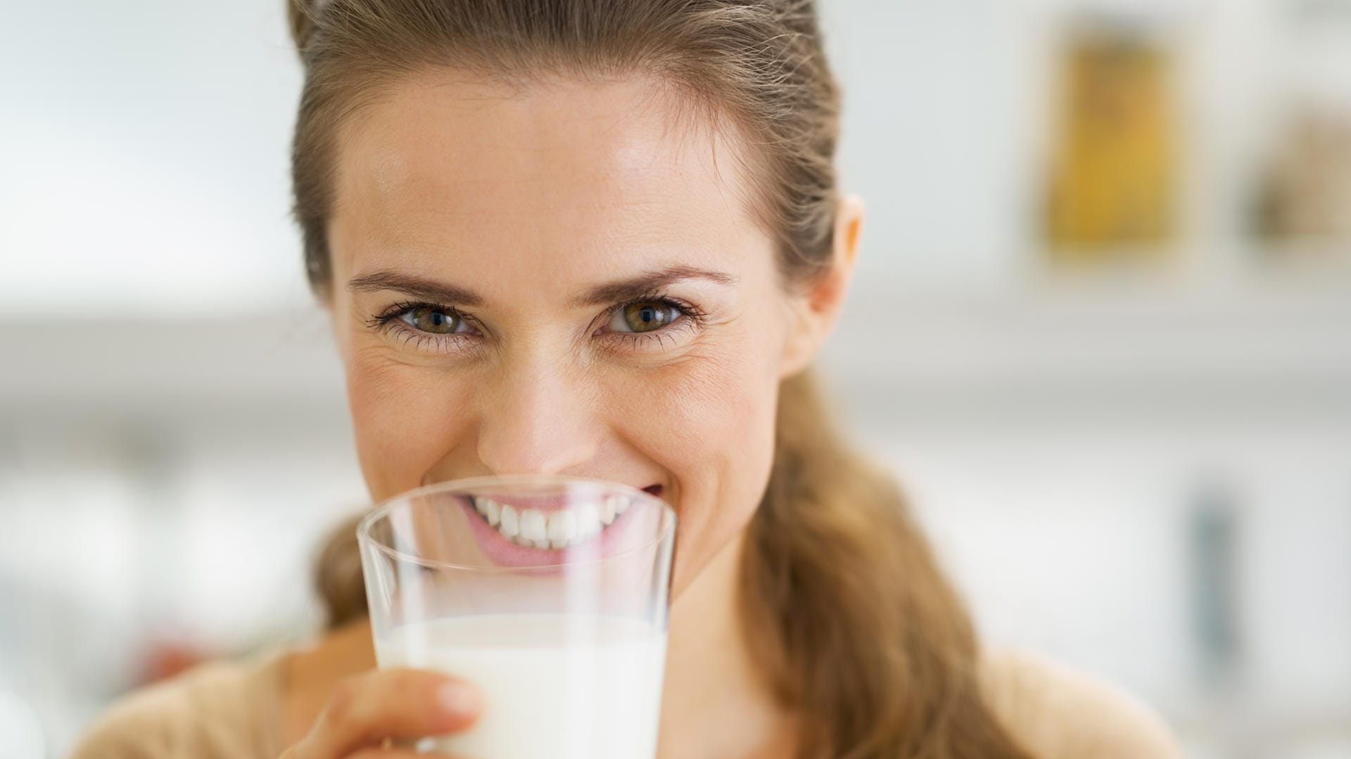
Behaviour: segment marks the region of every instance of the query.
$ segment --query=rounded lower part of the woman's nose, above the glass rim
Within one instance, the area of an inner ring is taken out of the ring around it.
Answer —
[[[493,474],[580,474],[594,459],[585,382],[557,366],[504,366],[481,397],[478,458]]]

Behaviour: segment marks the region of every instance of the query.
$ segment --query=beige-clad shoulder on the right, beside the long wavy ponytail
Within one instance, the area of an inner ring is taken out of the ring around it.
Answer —
[[[990,651],[982,690],[996,718],[1038,759],[1178,759],[1144,704],[1102,681],[1019,651]]]

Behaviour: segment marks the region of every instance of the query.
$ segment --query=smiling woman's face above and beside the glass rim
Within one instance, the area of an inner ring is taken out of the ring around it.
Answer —
[[[442,73],[353,119],[330,308],[372,496],[517,473],[648,489],[680,515],[684,587],[754,513],[778,382],[821,332],[738,150],[643,80]]]

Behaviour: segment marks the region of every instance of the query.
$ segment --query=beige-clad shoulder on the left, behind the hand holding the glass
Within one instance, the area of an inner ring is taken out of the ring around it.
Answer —
[[[69,759],[266,755],[262,717],[280,700],[280,662],[278,654],[212,662],[132,691],[85,731]]]

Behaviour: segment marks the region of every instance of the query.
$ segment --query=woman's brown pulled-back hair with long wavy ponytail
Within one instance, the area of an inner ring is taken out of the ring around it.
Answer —
[[[647,76],[742,138],[785,286],[832,257],[839,92],[811,0],[290,0],[305,66],[292,153],[305,265],[328,293],[339,127],[401,77]],[[338,625],[365,613],[353,525],[319,556]],[[801,759],[1017,758],[978,689],[970,619],[892,479],[840,440],[804,371],[742,567],[744,633]]]

